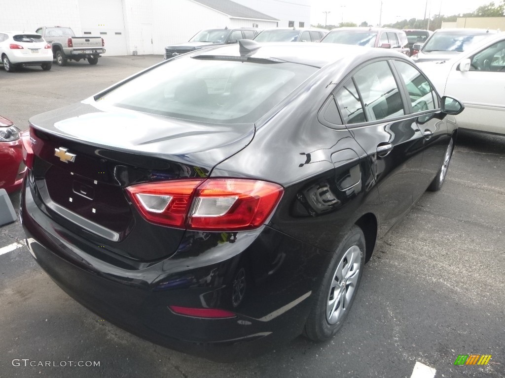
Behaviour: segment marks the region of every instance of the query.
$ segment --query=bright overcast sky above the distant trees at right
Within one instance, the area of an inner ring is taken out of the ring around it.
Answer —
[[[472,12],[481,5],[492,3],[493,0],[382,0],[382,24],[391,24],[396,21],[411,18],[424,18],[427,5],[426,17],[442,15],[450,16],[460,13]],[[499,1],[496,1],[499,3]],[[370,25],[378,25],[380,17],[381,0],[312,0],[311,24],[325,23],[325,14],[329,11],[329,25],[337,25],[340,22],[354,22],[361,24],[363,21]]]

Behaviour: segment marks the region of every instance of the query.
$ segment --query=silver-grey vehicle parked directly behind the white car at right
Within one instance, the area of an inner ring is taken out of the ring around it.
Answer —
[[[452,59],[496,33],[490,29],[438,29],[424,44],[414,44],[418,52],[412,59],[416,63]]]

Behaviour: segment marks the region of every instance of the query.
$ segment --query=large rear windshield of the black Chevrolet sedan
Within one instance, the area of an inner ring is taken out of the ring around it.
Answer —
[[[188,120],[251,123],[318,70],[289,62],[226,59],[169,60],[98,101]]]

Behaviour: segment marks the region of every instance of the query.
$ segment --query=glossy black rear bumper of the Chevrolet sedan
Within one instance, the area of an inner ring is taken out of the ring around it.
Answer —
[[[68,230],[37,207],[26,187],[21,218],[37,263],[78,302],[135,335],[214,360],[259,355],[295,338],[309,314],[313,286],[319,284],[321,263],[314,257],[321,251],[268,227],[252,236],[235,235],[235,241],[213,246],[215,252],[188,250],[186,245],[179,259],[176,254],[120,267],[110,258],[100,260],[80,250]],[[244,244],[246,237],[255,240]],[[261,266],[259,259],[269,256],[271,266]],[[234,273],[241,268],[247,289],[235,307]],[[169,305],[222,308],[236,316],[193,318],[172,312]]]

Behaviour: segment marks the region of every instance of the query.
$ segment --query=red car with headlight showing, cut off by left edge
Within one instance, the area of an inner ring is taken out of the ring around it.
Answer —
[[[20,136],[21,131],[14,123],[0,116],[0,189],[7,193],[21,187],[26,170]]]

